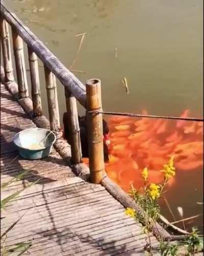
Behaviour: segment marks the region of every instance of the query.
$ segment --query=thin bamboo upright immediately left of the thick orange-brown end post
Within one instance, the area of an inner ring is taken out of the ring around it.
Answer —
[[[66,109],[68,114],[68,124],[71,145],[71,161],[73,164],[82,162],[82,148],[80,140],[80,126],[77,111],[77,101],[73,95],[65,88]]]

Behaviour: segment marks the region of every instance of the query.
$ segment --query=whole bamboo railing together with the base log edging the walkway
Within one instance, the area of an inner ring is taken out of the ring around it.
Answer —
[[[1,4],[1,53],[3,55],[4,68],[1,66],[1,80],[4,80],[12,95],[18,99],[37,126],[42,126],[60,134],[59,105],[57,98],[56,78],[65,87],[66,110],[68,113],[68,127],[71,133],[71,161],[72,170],[80,177],[103,185],[109,193],[118,200],[124,207],[132,207],[136,212],[145,216],[141,207],[127,195],[121,187],[115,184],[106,176],[103,151],[103,121],[101,106],[101,84],[98,79],[90,79],[84,84],[75,77],[59,59],[51,53],[43,43],[25,27],[14,13],[11,13]],[[11,58],[11,46],[9,26],[12,29],[13,51],[15,57],[15,67],[17,82],[14,81],[13,66]],[[28,47],[29,66],[31,75],[31,97],[29,98],[27,74],[25,72],[25,61],[23,45]],[[42,115],[42,105],[40,97],[40,82],[38,72],[38,58],[43,62],[45,72],[45,84],[47,92],[47,102],[49,111],[49,121]],[[77,101],[87,109],[88,139],[89,139],[89,166],[85,168],[82,162],[82,151],[80,142],[80,127],[78,120]],[[67,158],[66,147],[58,138],[55,147],[63,159]],[[88,176],[88,177],[87,177]],[[169,233],[158,223],[155,223],[152,232],[163,239],[169,239]]]

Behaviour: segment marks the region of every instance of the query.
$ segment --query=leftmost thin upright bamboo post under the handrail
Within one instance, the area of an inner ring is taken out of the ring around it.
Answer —
[[[13,67],[11,59],[11,47],[9,40],[9,27],[5,19],[1,18],[1,41],[4,62],[5,81],[13,81]]]

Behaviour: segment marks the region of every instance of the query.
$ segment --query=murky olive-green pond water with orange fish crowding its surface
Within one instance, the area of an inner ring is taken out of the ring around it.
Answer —
[[[76,35],[86,33],[72,69],[83,71],[73,73],[84,83],[90,78],[101,79],[105,111],[141,113],[146,110],[151,115],[179,116],[189,109],[188,116],[203,116],[201,0],[5,0],[4,3],[67,68],[77,55],[82,38]],[[123,77],[127,80],[129,94],[123,86]],[[40,82],[43,111],[48,117],[42,67]],[[60,83],[58,97],[62,120],[65,98]],[[81,106],[79,114],[84,114]],[[178,127],[174,121],[162,122],[159,132],[156,129],[151,134],[148,125],[156,125],[156,120],[151,123],[140,120],[142,124],[134,124],[139,121],[136,118],[114,121],[114,117],[110,117],[107,120],[112,145],[116,146],[112,148],[112,155],[119,158],[120,163],[120,167],[115,162],[107,166],[115,182],[126,191],[131,182],[136,186],[141,184],[139,170],[145,166],[151,169],[152,182],[160,182],[160,168],[177,152],[176,177],[169,185],[166,200],[176,220],[180,219],[178,206],[183,207],[184,218],[203,212],[202,205],[197,204],[203,198],[201,125],[191,122]],[[130,126],[120,127],[123,131],[119,131],[115,126],[120,125]],[[135,144],[131,140],[134,146],[130,145],[129,136],[135,129],[143,132],[141,138],[148,141],[145,145],[148,156],[139,146],[144,140],[136,140]],[[118,135],[118,132],[127,133]],[[147,139],[147,132],[152,140]],[[123,139],[119,142],[118,138]],[[171,142],[175,144],[169,149]],[[131,154],[125,155],[124,148]],[[158,154],[154,155],[154,149]],[[123,162],[125,157],[131,159],[129,165]],[[132,166],[131,161],[134,161]],[[162,214],[173,221],[166,203],[161,201],[161,205]],[[186,223],[187,228],[194,225],[202,231],[202,217]]]

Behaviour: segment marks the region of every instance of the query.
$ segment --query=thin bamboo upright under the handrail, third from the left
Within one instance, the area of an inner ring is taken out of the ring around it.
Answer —
[[[42,115],[42,105],[40,97],[40,80],[38,72],[38,58],[37,55],[28,47],[29,54],[29,66],[31,73],[31,93],[33,101],[33,112],[34,116]]]

